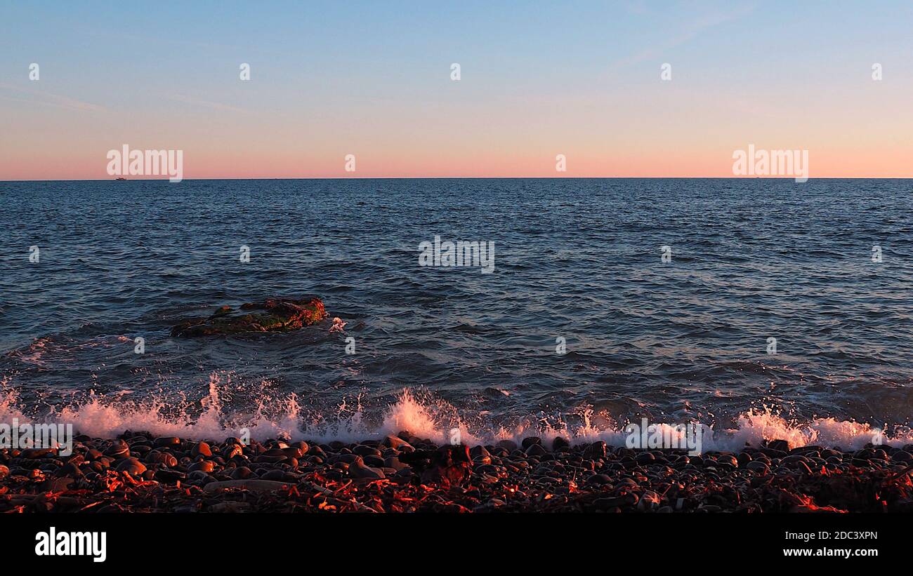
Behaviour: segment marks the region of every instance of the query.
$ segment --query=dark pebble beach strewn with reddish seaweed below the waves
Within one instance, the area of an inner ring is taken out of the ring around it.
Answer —
[[[739,452],[78,436],[0,450],[0,512],[913,512],[913,445]]]

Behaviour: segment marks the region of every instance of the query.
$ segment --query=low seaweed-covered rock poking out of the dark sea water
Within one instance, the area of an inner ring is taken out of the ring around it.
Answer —
[[[205,318],[191,318],[172,328],[173,336],[193,337],[249,332],[289,332],[327,317],[323,301],[317,296],[300,299],[269,298],[264,302],[246,303],[239,311],[222,306]]]

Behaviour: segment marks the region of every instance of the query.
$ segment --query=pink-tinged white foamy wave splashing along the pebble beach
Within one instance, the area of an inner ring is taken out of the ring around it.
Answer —
[[[226,384],[214,373],[210,375],[207,396],[198,402],[177,405],[164,396],[138,401],[132,400],[129,394],[100,396],[93,393],[66,406],[48,406],[38,416],[28,414],[27,407],[21,406],[16,389],[0,382],[0,423],[11,424],[16,419],[20,424],[71,424],[77,434],[102,438],[117,437],[126,430],[132,430],[150,432],[155,436],[219,440],[239,437],[247,431],[251,438],[257,440],[287,437],[291,440],[340,440],[348,443],[408,430],[417,437],[444,443],[454,428],[459,429],[461,441],[469,446],[502,439],[519,443],[528,436],[538,436],[544,441],[560,436],[570,439],[572,444],[603,440],[610,446],[624,446],[627,437],[624,432],[626,423],[620,425],[605,414],[594,415],[592,410],[575,415],[575,419],[581,421],[577,425],[550,423],[541,417],[525,418],[524,424],[510,428],[474,425],[471,418],[461,417],[456,407],[412,388],[404,388],[396,400],[383,409],[382,414],[374,417],[362,408],[361,398],[352,402],[344,400],[333,410],[309,411],[299,404],[295,394],[277,398],[266,392],[252,397],[251,410],[236,411],[227,409],[223,401]],[[330,417],[326,416],[328,412]],[[674,430],[688,423],[650,424]],[[773,439],[786,440],[790,447],[818,446],[844,450],[859,449],[870,443],[894,447],[913,444],[913,430],[909,427],[893,427],[887,433],[867,423],[832,417],[800,423],[782,417],[767,407],[741,414],[735,427],[693,424],[702,430],[704,451],[738,451],[746,446],[761,446],[764,441]]]

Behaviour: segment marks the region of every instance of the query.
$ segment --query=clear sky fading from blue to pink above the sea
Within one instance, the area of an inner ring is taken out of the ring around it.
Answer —
[[[749,145],[910,178],[911,30],[909,0],[0,0],[0,180],[125,144],[184,179],[731,177]]]

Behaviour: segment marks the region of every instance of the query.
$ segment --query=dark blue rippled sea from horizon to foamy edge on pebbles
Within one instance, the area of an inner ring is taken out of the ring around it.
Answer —
[[[110,433],[207,418],[226,430],[458,422],[475,435],[642,416],[806,435],[830,426],[838,438],[834,427],[855,423],[909,426],[911,190],[911,180],[0,182],[0,406]],[[494,272],[420,266],[419,244],[436,235],[494,242]],[[225,303],[304,293],[319,294],[344,333],[328,322],[169,335]]]

